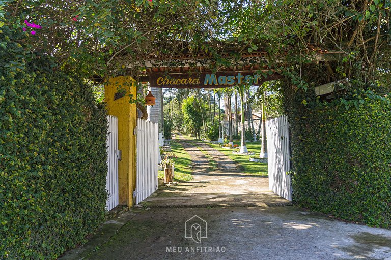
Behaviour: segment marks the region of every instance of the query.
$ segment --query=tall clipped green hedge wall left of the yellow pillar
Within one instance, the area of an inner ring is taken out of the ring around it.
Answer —
[[[0,258],[55,259],[104,220],[105,110],[2,30]]]

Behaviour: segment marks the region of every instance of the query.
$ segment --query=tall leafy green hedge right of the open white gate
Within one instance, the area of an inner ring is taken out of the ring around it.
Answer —
[[[293,198],[334,217],[391,226],[391,103],[371,91],[291,118]]]

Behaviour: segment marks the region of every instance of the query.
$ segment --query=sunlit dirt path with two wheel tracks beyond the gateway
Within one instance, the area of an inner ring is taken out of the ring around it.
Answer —
[[[290,205],[269,191],[268,178],[248,175],[225,154],[200,142],[179,140],[190,155],[193,180],[159,190],[146,199],[149,207],[265,206]],[[217,164],[211,171],[208,153]]]

